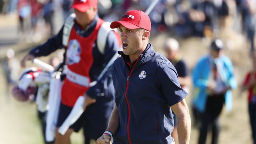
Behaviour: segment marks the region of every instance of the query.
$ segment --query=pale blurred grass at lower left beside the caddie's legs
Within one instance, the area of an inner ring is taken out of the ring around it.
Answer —
[[[4,83],[0,85],[0,144],[43,144],[35,103],[18,102],[12,97],[7,102]],[[82,131],[72,134],[71,138],[73,144],[82,144]]]

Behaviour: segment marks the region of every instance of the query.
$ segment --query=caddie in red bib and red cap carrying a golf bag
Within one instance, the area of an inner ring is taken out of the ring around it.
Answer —
[[[47,56],[57,49],[66,49],[65,63],[68,69],[61,89],[55,143],[70,144],[71,133],[84,127],[85,143],[89,144],[90,139],[97,140],[105,131],[114,108],[111,67],[95,85],[89,84],[98,78],[119,50],[120,41],[118,34],[109,28],[110,23],[99,18],[97,0],[74,0],[71,8],[74,13],[65,20],[59,33],[32,49],[21,60],[21,66],[25,67],[27,60]],[[58,128],[81,95],[85,98],[85,111],[68,131],[61,135]]]

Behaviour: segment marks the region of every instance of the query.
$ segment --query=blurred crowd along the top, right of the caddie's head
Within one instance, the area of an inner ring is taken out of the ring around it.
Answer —
[[[114,21],[131,9],[146,11],[153,0],[99,0],[99,15]],[[102,7],[102,8],[101,8]],[[255,0],[159,0],[149,17],[151,35],[167,32],[178,38],[192,36],[208,40],[221,37],[226,27],[243,34],[254,51]],[[227,23],[232,21],[231,25]]]

